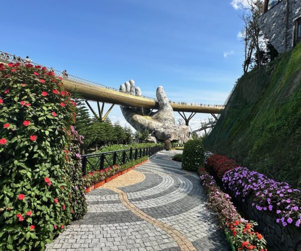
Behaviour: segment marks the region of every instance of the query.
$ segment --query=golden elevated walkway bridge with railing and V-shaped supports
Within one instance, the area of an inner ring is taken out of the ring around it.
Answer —
[[[0,51],[0,62],[4,64],[8,63],[20,63],[26,64],[28,59],[21,57],[16,57],[15,55]],[[39,65],[33,62],[30,62],[33,65]],[[40,65],[41,67],[45,67]],[[48,70],[54,71],[57,76],[63,78],[64,87],[72,92],[76,90],[83,99],[85,99],[86,104],[91,109],[93,114],[96,117],[99,117],[101,120],[104,120],[112,107],[117,105],[124,105],[130,107],[143,107],[149,109],[158,109],[159,103],[157,99],[139,96],[129,93],[124,93],[120,90],[101,85],[95,82],[91,82],[76,76],[66,75],[61,71],[54,70],[52,68],[46,67]],[[93,110],[88,101],[96,101],[98,107],[98,114]],[[100,105],[100,102],[102,104]],[[104,114],[104,103],[112,104],[108,111]],[[217,113],[220,113],[224,109],[224,105],[209,105],[209,104],[195,104],[195,103],[186,103],[186,102],[172,102],[170,101],[171,106],[174,111],[178,111],[179,114],[183,117],[188,125],[189,120],[196,113],[210,113],[216,119]],[[101,106],[101,107],[100,107]],[[181,114],[182,112],[182,114]],[[191,112],[189,116],[186,116],[185,112]]]

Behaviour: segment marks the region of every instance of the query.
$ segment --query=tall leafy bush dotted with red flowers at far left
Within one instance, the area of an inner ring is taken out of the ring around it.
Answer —
[[[85,212],[74,112],[46,68],[0,64],[0,250],[43,250]]]

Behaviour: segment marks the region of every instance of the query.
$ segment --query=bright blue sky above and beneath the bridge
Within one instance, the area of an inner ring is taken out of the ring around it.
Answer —
[[[242,74],[235,2],[5,1],[0,50],[114,88],[134,79],[145,96],[163,85],[173,101],[221,104]],[[125,123],[118,106],[110,117]]]

